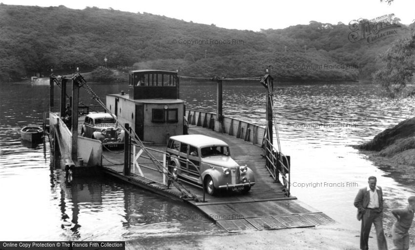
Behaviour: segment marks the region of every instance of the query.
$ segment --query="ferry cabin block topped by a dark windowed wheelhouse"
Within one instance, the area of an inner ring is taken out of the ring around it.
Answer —
[[[170,136],[184,134],[185,105],[175,71],[130,71],[128,94],[107,95],[106,106],[142,141],[166,145]]]

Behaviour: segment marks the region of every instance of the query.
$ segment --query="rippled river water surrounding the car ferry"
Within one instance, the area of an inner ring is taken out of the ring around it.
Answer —
[[[62,169],[50,162],[47,141],[26,145],[20,139],[21,127],[42,123],[49,87],[0,84],[0,240],[139,240],[224,233],[183,202],[107,176],[65,183]],[[103,99],[127,92],[126,83],[90,86]],[[224,83],[223,89],[224,115],[264,125],[265,88],[260,83]],[[182,81],[180,95],[187,109],[215,112],[214,83]],[[84,92],[81,100],[96,105]],[[414,195],[413,183],[380,170],[350,146],[413,117],[414,99],[388,100],[371,84],[291,83],[276,84],[274,100],[281,149],[291,156],[291,193],[300,201],[325,212],[339,227],[359,230],[353,199],[368,176],[375,175],[384,190],[385,214]],[[387,226],[391,219],[385,216]]]

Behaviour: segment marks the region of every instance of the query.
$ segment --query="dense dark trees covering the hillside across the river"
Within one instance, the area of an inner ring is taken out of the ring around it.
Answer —
[[[351,43],[349,33],[341,22],[253,32],[96,7],[1,4],[0,79],[48,75],[51,68],[92,71],[106,57],[111,69],[134,65],[186,76],[253,77],[270,64],[284,81],[355,80],[371,77],[380,65],[376,56],[398,38]],[[409,28],[403,26],[402,33]]]

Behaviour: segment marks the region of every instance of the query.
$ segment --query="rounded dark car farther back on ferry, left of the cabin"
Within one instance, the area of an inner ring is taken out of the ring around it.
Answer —
[[[81,135],[100,140],[104,145],[123,145],[125,132],[108,113],[90,113],[85,116]]]

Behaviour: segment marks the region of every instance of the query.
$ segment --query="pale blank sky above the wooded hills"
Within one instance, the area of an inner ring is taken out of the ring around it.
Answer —
[[[375,19],[395,14],[401,23],[415,19],[415,0],[394,0],[391,5],[380,0],[0,0],[4,4],[64,5],[72,9],[99,7],[133,13],[151,13],[217,27],[260,31],[309,24],[311,20],[348,24],[353,19]]]

